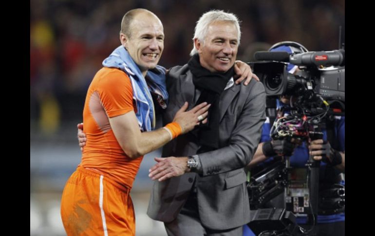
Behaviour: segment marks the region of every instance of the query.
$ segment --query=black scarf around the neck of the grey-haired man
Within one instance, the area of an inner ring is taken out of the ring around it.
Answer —
[[[213,73],[202,67],[199,55],[193,55],[187,63],[193,74],[193,84],[201,91],[195,105],[203,102],[211,104],[208,110],[208,122],[200,125],[198,131],[199,144],[202,146],[198,153],[219,148],[219,100],[229,79],[234,75],[234,66],[225,73]]]

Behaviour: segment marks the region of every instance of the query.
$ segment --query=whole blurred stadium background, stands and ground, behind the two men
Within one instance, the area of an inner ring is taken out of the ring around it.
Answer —
[[[120,22],[133,8],[154,12],[164,24],[160,64],[189,59],[195,22],[210,9],[236,14],[243,32],[238,58],[284,40],[310,51],[338,49],[345,36],[344,0],[31,0],[30,1],[30,235],[65,235],[59,209],[62,189],[80,162],[76,124],[87,88],[102,60],[119,45]],[[164,236],[163,224],[146,215],[152,182],[144,158],[131,196],[137,236]]]

